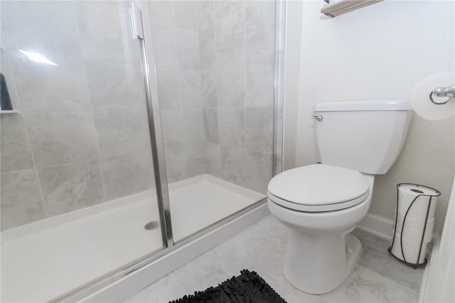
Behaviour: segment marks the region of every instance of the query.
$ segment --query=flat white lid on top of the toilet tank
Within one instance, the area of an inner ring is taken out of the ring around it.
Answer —
[[[363,110],[411,110],[408,100],[375,100],[316,103],[315,112],[355,112]]]

